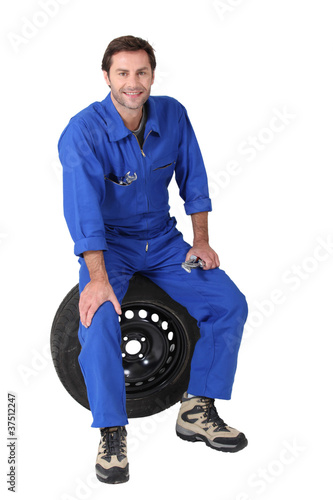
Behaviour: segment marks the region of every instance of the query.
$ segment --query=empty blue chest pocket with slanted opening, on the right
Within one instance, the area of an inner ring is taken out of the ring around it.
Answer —
[[[150,205],[165,210],[169,201],[168,186],[172,179],[178,152],[174,151],[154,161],[150,171]]]

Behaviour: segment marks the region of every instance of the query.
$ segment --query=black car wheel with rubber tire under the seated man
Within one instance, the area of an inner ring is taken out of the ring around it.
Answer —
[[[86,386],[78,362],[81,350],[78,339],[78,303],[79,287],[76,285],[60,304],[53,320],[51,353],[56,372],[65,389],[78,403],[89,409]],[[121,306],[123,314],[120,325],[123,339],[132,337],[137,339],[138,335],[147,337],[141,339],[146,341],[146,344],[141,344],[144,355],[128,354],[127,344],[125,341],[123,341],[124,345],[122,344],[123,356],[125,356],[123,364],[129,367],[125,373],[131,373],[129,376],[131,382],[126,387],[127,416],[135,418],[153,415],[180,401],[182,394],[186,391],[194,347],[200,336],[199,328],[196,320],[189,315],[186,308],[171,299],[151,280],[138,273],[131,278]],[[146,319],[139,319],[139,309],[140,313],[145,309],[148,311]],[[128,314],[126,311],[134,314],[133,320],[126,318],[125,314]],[[154,320],[155,322],[152,320],[154,312],[158,315],[158,321]],[[165,325],[168,325],[167,329]],[[168,340],[169,336],[171,340]],[[149,339],[151,342],[148,342]],[[159,342],[153,349],[152,345],[156,343],[156,339],[159,339]],[[172,349],[173,352],[171,355],[169,352],[166,360],[167,351],[172,351]],[[163,356],[159,361],[157,357],[161,350],[163,350]],[[159,371],[155,378],[150,377],[147,380],[141,375],[142,363],[146,355],[146,363],[148,363],[147,360],[153,351],[154,359],[150,366],[155,372],[157,368]],[[138,359],[138,356],[142,359]],[[162,366],[161,369],[160,366]]]

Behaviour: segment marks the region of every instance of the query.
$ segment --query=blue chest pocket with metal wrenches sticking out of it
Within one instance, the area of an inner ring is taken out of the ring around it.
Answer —
[[[114,169],[104,176],[103,214],[109,218],[125,218],[137,213],[137,176],[128,168]]]

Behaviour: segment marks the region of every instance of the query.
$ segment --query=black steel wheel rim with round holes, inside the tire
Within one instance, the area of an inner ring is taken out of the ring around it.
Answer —
[[[173,311],[147,302],[123,304],[119,322],[126,397],[160,391],[185,360],[185,328]]]

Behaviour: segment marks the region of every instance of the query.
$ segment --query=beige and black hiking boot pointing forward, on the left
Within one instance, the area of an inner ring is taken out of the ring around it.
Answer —
[[[125,427],[102,427],[96,458],[96,476],[103,483],[125,483],[129,479]]]

